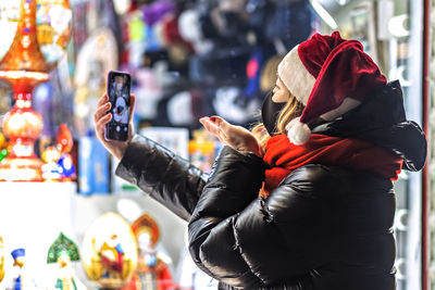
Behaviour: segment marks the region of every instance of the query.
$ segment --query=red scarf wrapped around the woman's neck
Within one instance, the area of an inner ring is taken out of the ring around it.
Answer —
[[[306,164],[369,171],[396,180],[403,163],[399,156],[366,141],[320,134],[312,134],[310,140],[302,146],[290,143],[286,135],[271,137],[263,160],[270,167],[265,171],[263,187],[266,196],[284,177]]]

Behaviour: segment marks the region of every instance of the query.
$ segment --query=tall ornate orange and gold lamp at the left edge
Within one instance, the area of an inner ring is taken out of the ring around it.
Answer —
[[[34,152],[42,117],[32,108],[33,90],[63,56],[71,25],[67,0],[0,0],[0,78],[12,85],[15,100],[3,119],[12,150],[0,163],[2,181],[44,180]]]

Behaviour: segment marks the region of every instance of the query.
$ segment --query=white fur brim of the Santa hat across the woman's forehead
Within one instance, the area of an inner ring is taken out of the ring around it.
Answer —
[[[278,65],[278,77],[287,89],[301,102],[307,104],[315,78],[308,72],[299,58],[298,46],[293,48]]]

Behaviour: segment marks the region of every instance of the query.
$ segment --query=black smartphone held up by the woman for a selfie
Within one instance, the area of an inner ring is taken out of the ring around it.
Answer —
[[[130,110],[130,76],[125,72],[111,71],[108,74],[108,96],[112,103],[112,119],[105,125],[107,140],[125,141],[128,138]]]

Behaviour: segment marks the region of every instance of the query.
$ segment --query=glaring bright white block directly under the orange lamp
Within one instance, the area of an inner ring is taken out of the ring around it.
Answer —
[[[0,182],[0,236],[5,249],[5,269],[12,268],[9,254],[26,249],[26,268],[44,277],[47,253],[62,231],[75,238],[74,182]]]

